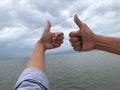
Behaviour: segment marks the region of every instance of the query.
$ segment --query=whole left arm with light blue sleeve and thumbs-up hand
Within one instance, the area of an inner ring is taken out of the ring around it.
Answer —
[[[49,90],[49,82],[44,74],[45,51],[59,47],[63,43],[62,32],[50,32],[51,22],[35,45],[33,54],[16,82],[15,90]]]

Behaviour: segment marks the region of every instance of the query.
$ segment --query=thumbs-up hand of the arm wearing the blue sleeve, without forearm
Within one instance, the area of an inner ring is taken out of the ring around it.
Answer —
[[[47,26],[39,40],[44,49],[53,49],[59,47],[63,43],[63,32],[50,32],[51,22],[47,21]]]

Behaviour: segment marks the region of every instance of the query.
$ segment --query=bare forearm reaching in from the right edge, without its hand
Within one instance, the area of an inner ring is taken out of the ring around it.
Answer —
[[[120,55],[120,38],[96,35],[95,49]]]

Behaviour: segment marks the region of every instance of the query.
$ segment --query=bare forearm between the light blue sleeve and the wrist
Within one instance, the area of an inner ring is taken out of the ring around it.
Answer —
[[[45,71],[45,49],[41,42],[37,42],[30,60],[27,63],[27,68],[38,68]]]

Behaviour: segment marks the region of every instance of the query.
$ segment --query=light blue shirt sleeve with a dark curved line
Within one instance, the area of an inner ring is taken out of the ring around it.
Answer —
[[[26,68],[16,82],[15,90],[49,90],[49,82],[41,70]]]

